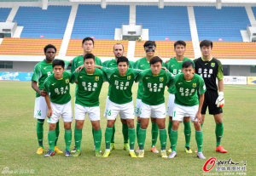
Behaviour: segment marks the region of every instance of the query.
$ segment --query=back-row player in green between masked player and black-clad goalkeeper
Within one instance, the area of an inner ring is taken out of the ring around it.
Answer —
[[[184,41],[177,41],[174,43],[174,51],[176,53],[176,57],[172,58],[166,63],[166,69],[168,69],[172,76],[176,76],[177,74],[182,73],[182,65],[183,62],[188,61],[188,58],[184,57],[184,53],[186,50],[186,43]],[[193,62],[192,60],[189,60]],[[168,125],[168,135],[169,138],[171,137],[171,129],[172,129],[172,114],[173,114],[173,106],[174,106],[174,99],[175,99],[175,87],[169,87],[168,88],[169,97],[168,97],[168,107],[167,107],[167,116],[169,116],[169,125]],[[192,153],[192,150],[189,147],[190,143],[190,136],[191,136],[191,128],[189,123],[189,116],[184,116],[183,118],[183,124],[184,124],[184,135],[185,135],[185,152],[186,153]],[[172,152],[172,149],[169,150],[169,152]]]

